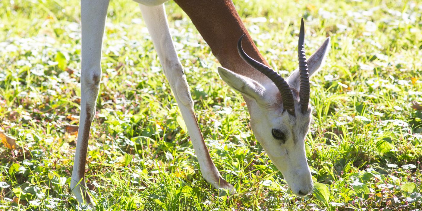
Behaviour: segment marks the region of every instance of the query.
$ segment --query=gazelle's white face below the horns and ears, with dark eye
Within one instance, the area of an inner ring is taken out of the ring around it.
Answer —
[[[297,110],[292,116],[283,112],[282,105],[268,102],[268,106],[264,106],[251,102],[248,110],[256,139],[284,175],[292,192],[298,196],[307,195],[313,188],[304,145],[311,121],[310,109],[306,114]]]

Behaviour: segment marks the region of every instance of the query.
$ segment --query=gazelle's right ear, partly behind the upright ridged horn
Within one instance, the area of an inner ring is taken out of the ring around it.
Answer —
[[[315,73],[317,73],[322,66],[325,64],[325,59],[327,58],[328,51],[330,50],[330,37],[325,39],[324,43],[322,43],[322,46],[319,47],[317,51],[315,51],[314,54],[312,54],[311,57],[308,59],[308,71],[309,71],[309,77],[313,76]],[[289,85],[291,87],[294,87],[295,89],[299,90],[299,71],[295,70],[295,72],[287,78],[287,81],[289,81]]]

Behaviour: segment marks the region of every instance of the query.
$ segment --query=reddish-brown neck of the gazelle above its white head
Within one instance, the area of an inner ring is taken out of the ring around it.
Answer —
[[[238,54],[236,44],[241,35],[245,34],[244,51],[255,60],[268,66],[243,25],[231,0],[195,0],[193,2],[175,0],[175,2],[192,20],[224,68],[263,84],[269,82],[266,76],[251,68]]]

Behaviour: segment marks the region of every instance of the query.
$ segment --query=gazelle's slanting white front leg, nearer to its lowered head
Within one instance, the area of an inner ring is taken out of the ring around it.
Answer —
[[[146,27],[152,37],[152,41],[164,69],[164,74],[176,97],[176,102],[179,105],[184,122],[186,123],[203,178],[215,188],[228,189],[230,193],[234,194],[236,192],[235,188],[221,177],[214,162],[211,160],[204,138],[199,129],[186,76],[184,75],[182,65],[179,62],[179,57],[176,54],[173,40],[171,39],[168,30],[164,5],[149,7],[140,4],[140,7]]]

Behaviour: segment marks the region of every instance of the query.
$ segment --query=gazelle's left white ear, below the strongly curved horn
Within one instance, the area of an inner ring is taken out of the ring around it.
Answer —
[[[257,81],[241,76],[223,67],[218,67],[217,70],[223,81],[229,84],[233,89],[236,89],[238,92],[246,95],[246,97],[256,100],[257,102],[263,100],[265,88]]]

